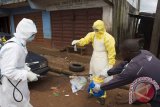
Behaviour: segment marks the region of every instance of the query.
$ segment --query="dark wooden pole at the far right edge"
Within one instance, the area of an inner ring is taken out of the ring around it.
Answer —
[[[159,40],[160,40],[160,0],[158,0],[157,4],[157,11],[156,11],[151,45],[150,45],[150,51],[156,56],[158,56]]]

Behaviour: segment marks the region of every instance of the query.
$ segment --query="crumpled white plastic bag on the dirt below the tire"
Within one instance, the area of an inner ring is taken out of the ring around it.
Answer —
[[[75,76],[70,80],[71,89],[73,93],[78,92],[79,90],[83,90],[84,86],[87,84],[87,79],[83,76]]]

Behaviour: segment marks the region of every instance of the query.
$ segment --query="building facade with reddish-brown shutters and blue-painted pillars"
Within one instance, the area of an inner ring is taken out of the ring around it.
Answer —
[[[29,18],[38,29],[33,44],[62,48],[91,32],[93,22],[100,19],[117,38],[113,1],[117,0],[0,0],[0,32],[13,34],[18,22]],[[126,0],[123,3],[129,5]]]

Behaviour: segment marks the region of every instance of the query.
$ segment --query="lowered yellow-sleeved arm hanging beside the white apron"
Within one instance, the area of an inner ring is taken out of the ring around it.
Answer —
[[[109,65],[113,66],[116,62],[115,40],[110,34],[107,33],[107,36],[104,42],[105,42],[106,51],[108,53]]]

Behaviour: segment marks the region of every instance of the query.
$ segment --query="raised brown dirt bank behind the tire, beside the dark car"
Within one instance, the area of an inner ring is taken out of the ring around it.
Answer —
[[[49,66],[52,69],[58,69],[56,71],[59,73],[73,73],[69,71],[69,64],[76,62],[84,65],[85,71],[83,73],[88,74],[90,56],[81,56],[79,54],[60,52],[56,49],[39,48],[36,46],[29,47],[29,50],[47,58]]]

